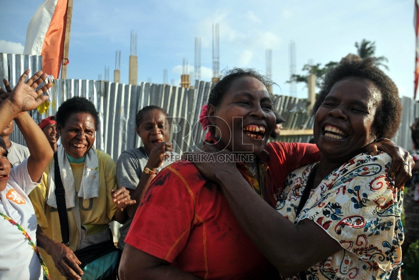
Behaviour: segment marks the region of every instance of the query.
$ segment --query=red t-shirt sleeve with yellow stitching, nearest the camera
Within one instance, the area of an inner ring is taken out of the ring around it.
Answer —
[[[173,262],[183,250],[194,219],[194,199],[182,175],[162,170],[137,209],[125,243]]]

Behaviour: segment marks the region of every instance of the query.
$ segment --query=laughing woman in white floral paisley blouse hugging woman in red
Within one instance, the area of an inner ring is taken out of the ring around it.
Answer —
[[[374,58],[349,54],[327,74],[313,108],[321,160],[288,175],[277,211],[234,165],[195,164],[221,186],[244,232],[284,278],[397,279],[402,191],[389,174],[391,157],[364,147],[391,138],[401,110],[397,87]]]

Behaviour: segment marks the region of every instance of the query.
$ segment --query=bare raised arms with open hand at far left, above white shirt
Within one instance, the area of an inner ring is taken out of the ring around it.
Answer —
[[[19,79],[19,83],[10,93],[4,93],[2,90],[3,102],[0,104],[2,118],[0,118],[0,128],[4,128],[12,119],[15,119],[23,137],[26,140],[30,156],[28,158],[28,172],[33,181],[38,181],[51,158],[53,152],[49,147],[45,134],[29,116],[27,111],[33,110],[44,102],[48,97],[41,96],[51,87],[51,83],[35,91],[42,84],[47,75],[42,71],[37,72],[28,81],[25,82],[29,69],[26,70]],[[7,80],[4,80],[6,89],[11,90]]]

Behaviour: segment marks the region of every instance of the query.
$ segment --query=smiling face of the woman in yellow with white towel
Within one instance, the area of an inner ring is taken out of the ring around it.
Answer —
[[[84,157],[95,139],[95,123],[90,113],[71,114],[61,131],[61,143],[66,153],[76,159]]]

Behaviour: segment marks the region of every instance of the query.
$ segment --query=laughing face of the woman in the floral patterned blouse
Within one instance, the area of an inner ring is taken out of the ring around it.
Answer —
[[[375,116],[382,94],[370,80],[338,81],[316,112],[314,137],[322,155],[344,163],[377,139]]]

